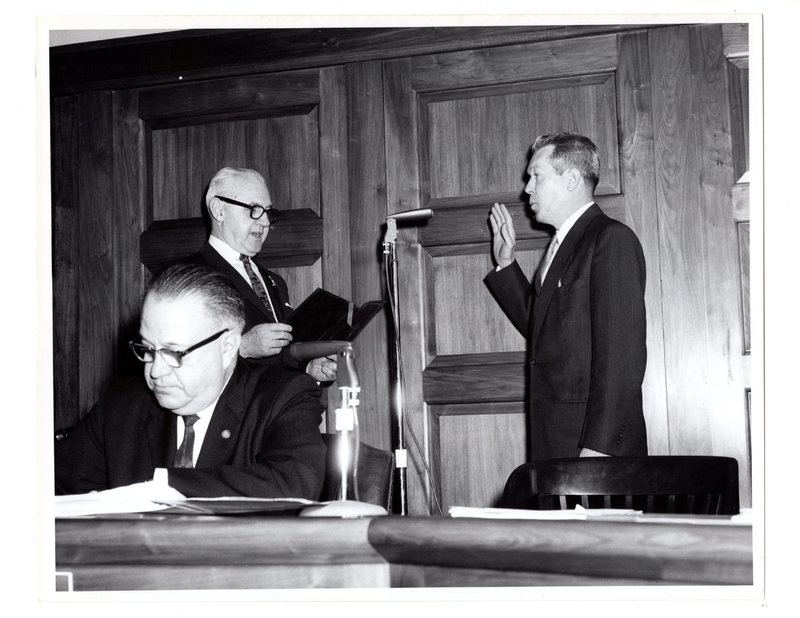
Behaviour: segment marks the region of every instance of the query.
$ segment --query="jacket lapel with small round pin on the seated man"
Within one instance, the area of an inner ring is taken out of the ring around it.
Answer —
[[[197,468],[213,468],[224,465],[230,459],[244,421],[244,363],[237,359],[228,385],[222,391],[208,424],[203,446],[197,457]]]

